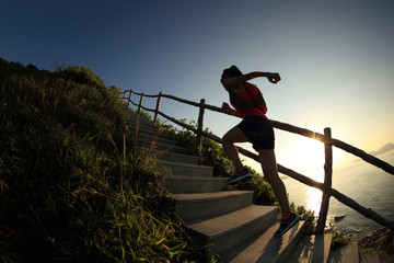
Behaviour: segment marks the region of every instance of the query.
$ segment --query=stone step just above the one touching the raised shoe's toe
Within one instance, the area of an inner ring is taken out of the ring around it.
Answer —
[[[196,165],[181,162],[172,161],[161,161],[165,168],[167,168],[173,175],[179,176],[198,176],[198,178],[212,178],[213,176],[213,167],[207,165]]]

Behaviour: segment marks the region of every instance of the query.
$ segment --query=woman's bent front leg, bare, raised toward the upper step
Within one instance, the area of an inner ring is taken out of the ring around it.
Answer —
[[[240,170],[243,168],[243,164],[240,160],[239,151],[234,144],[246,141],[248,141],[246,135],[237,126],[230,129],[222,138],[224,153],[233,162],[234,167]]]

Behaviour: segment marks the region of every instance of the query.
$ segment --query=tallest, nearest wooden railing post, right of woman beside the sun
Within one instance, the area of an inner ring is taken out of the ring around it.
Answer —
[[[332,130],[331,128],[324,129],[324,152],[325,152],[325,163],[324,163],[324,190],[322,197],[322,206],[318,213],[316,233],[323,235],[325,222],[327,220],[331,190],[333,183],[333,146],[332,146]]]

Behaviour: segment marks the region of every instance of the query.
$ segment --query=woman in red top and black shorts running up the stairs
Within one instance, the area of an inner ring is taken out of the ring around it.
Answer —
[[[230,103],[234,107],[234,110],[231,108],[224,102],[222,111],[243,118],[222,138],[223,150],[236,169],[234,175],[225,184],[235,184],[252,178],[247,168],[243,167],[234,146],[235,142],[251,142],[258,152],[264,178],[271,185],[282,213],[280,227],[275,232],[276,237],[280,237],[294,226],[300,217],[290,210],[286,187],[278,174],[274,151],[274,128],[266,116],[267,107],[262,92],[256,85],[246,82],[262,77],[266,77],[269,82],[275,84],[280,81],[279,73],[255,71],[243,75],[235,66],[224,69],[221,76],[220,81],[229,92]]]

